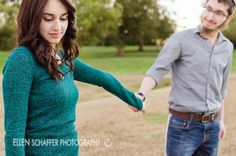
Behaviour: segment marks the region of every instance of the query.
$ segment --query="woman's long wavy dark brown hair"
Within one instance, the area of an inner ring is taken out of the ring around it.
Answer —
[[[33,53],[36,60],[56,80],[64,76],[59,70],[57,59],[51,52],[56,52],[48,41],[39,34],[39,26],[42,19],[44,6],[48,0],[23,0],[17,17],[18,23],[18,44],[27,46]],[[79,48],[76,44],[76,17],[75,8],[68,0],[60,0],[68,10],[68,27],[61,39],[60,47],[64,53],[62,62],[74,69],[73,60],[79,55]]]

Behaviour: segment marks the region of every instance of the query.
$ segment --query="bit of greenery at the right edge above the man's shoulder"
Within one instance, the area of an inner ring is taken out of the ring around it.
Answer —
[[[228,37],[236,48],[236,12],[234,12],[234,19],[229,24],[229,27],[224,31],[226,37]]]

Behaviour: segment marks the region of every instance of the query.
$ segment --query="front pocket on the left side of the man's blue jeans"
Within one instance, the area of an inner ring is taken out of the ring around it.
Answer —
[[[170,118],[170,126],[178,129],[188,129],[189,127],[189,120],[178,118],[175,116],[171,116]]]

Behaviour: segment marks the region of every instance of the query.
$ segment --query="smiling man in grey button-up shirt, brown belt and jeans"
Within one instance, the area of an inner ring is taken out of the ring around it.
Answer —
[[[234,7],[233,0],[206,0],[201,24],[173,34],[143,79],[137,96],[144,99],[172,69],[168,156],[217,155],[226,133],[223,101],[233,52],[220,30]]]

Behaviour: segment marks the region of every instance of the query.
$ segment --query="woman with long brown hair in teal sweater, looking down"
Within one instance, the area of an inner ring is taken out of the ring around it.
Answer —
[[[70,1],[23,0],[17,22],[19,47],[3,70],[6,156],[78,155],[78,141],[64,144],[77,139],[74,80],[103,87],[142,110],[142,101],[112,75],[76,59]]]

